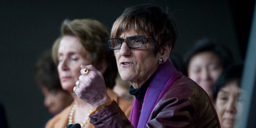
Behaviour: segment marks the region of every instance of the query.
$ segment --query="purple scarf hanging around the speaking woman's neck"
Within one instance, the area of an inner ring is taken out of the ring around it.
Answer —
[[[170,61],[161,64],[146,91],[143,105],[134,98],[130,122],[135,128],[145,128],[152,111],[173,82],[183,74],[176,70]],[[142,106],[141,113],[139,110]]]

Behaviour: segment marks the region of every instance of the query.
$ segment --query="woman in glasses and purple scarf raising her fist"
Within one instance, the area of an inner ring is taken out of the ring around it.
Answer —
[[[81,65],[74,93],[94,109],[89,117],[95,128],[221,127],[207,93],[168,60],[177,29],[161,8],[128,7],[114,22],[110,37],[106,47],[114,50],[118,71],[131,82],[129,92],[135,99],[129,121],[106,93],[101,73]]]

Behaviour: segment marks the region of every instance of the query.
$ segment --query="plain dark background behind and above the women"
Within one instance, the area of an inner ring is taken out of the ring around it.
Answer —
[[[41,128],[50,116],[33,80],[33,65],[60,35],[64,19],[92,18],[110,29],[125,7],[153,3],[163,10],[168,7],[176,19],[179,36],[174,53],[183,55],[195,40],[208,37],[228,46],[236,62],[243,62],[254,0],[235,1],[1,0],[0,102],[9,126]]]

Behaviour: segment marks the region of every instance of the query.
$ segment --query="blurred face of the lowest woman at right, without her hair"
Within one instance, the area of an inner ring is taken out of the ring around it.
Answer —
[[[216,112],[223,128],[233,128],[241,110],[243,95],[236,80],[228,82],[216,97]]]

